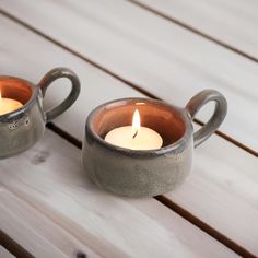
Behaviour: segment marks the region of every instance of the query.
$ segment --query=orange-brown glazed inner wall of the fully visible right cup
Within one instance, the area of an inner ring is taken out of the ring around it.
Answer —
[[[140,113],[141,126],[151,128],[161,134],[163,146],[173,144],[185,134],[186,125],[179,110],[151,99],[124,99],[102,106],[94,113],[92,128],[104,139],[110,130],[132,125],[136,109]]]

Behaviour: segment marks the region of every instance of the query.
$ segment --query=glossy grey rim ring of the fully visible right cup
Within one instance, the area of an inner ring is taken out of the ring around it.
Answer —
[[[155,150],[130,150],[127,148],[121,148],[121,146],[117,146],[114,145],[112,143],[106,142],[102,137],[99,137],[95,130],[93,129],[93,119],[95,114],[101,109],[104,108],[105,106],[109,106],[113,104],[118,104],[118,103],[128,103],[128,102],[146,102],[150,104],[159,104],[165,107],[169,107],[173,108],[174,110],[176,110],[178,113],[178,115],[180,116],[183,122],[185,124],[185,132],[184,134],[174,143],[168,144],[166,146],[162,146],[160,149],[155,149]],[[153,99],[153,98],[144,98],[144,97],[127,97],[127,98],[119,98],[119,99],[114,99],[107,103],[104,103],[99,106],[97,106],[96,108],[94,108],[87,119],[86,119],[86,126],[85,126],[85,133],[91,133],[91,137],[94,138],[94,140],[99,143],[102,146],[109,149],[110,151],[115,151],[115,152],[120,152],[124,153],[126,155],[139,155],[139,156],[153,156],[153,155],[162,155],[165,153],[169,153],[176,149],[180,150],[180,149],[185,149],[187,142],[189,141],[189,138],[191,137],[191,132],[192,132],[192,125],[190,122],[190,118],[187,116],[187,110],[185,108],[179,108],[176,107],[174,105],[167,104],[165,102],[162,101],[157,101],[157,99]]]

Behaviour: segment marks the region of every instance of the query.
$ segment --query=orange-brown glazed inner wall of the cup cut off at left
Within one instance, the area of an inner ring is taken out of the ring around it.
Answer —
[[[15,78],[0,78],[0,92],[4,98],[12,98],[25,105],[32,97],[33,90],[23,80]]]

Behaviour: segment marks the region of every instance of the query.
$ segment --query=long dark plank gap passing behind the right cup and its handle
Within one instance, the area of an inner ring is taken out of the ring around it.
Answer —
[[[128,0],[128,1],[131,1],[131,0]],[[133,0],[132,0],[132,1],[133,1]],[[14,15],[12,15],[12,14],[10,14],[10,13],[3,11],[2,9],[0,9],[0,14],[4,15],[5,17],[9,17],[10,20],[12,20],[12,21],[19,23],[20,25],[22,25],[22,26],[26,27],[27,30],[34,32],[35,34],[37,34],[37,35],[39,35],[39,36],[42,36],[42,37],[44,37],[45,39],[51,42],[52,44],[57,45],[58,47],[61,47],[62,49],[64,49],[64,50],[69,51],[70,54],[77,56],[78,58],[82,59],[83,61],[86,61],[87,63],[91,63],[93,67],[95,67],[95,68],[97,68],[97,69],[99,69],[99,70],[106,72],[107,74],[112,75],[113,78],[117,79],[118,81],[124,82],[125,84],[127,84],[128,86],[130,86],[130,87],[137,90],[138,92],[141,92],[141,93],[144,94],[145,96],[151,97],[151,98],[154,98],[154,99],[161,99],[160,97],[155,96],[154,94],[150,93],[149,91],[146,91],[146,90],[142,89],[141,86],[139,86],[139,85],[137,85],[137,84],[130,82],[129,80],[127,80],[127,79],[125,79],[125,78],[122,78],[122,77],[120,77],[120,75],[114,73],[113,71],[106,69],[105,67],[98,64],[97,62],[91,60],[90,58],[87,58],[87,57],[81,55],[80,52],[73,50],[72,48],[66,46],[64,44],[58,42],[57,39],[55,39],[55,38],[52,38],[52,37],[46,35],[46,34],[44,34],[43,32],[40,32],[40,31],[38,31],[37,28],[33,27],[32,25],[30,25],[30,24],[23,22],[22,20],[17,19],[16,16],[14,16]],[[258,60],[257,60],[257,61],[258,61]],[[199,119],[197,119],[197,118],[195,118],[194,121],[195,121],[196,124],[200,125],[200,126],[203,126],[203,125],[204,125],[204,122],[202,122],[201,120],[199,120]],[[226,133],[224,133],[224,132],[222,132],[222,131],[219,131],[219,130],[216,130],[214,133],[218,134],[218,136],[220,136],[221,138],[225,139],[226,141],[230,141],[230,142],[233,143],[234,145],[236,145],[236,146],[243,149],[244,151],[250,153],[251,155],[258,157],[258,152],[256,152],[256,151],[253,150],[251,148],[249,148],[249,146],[247,146],[247,145],[241,143],[239,141],[233,139],[233,138],[230,137],[228,134],[226,134]]]

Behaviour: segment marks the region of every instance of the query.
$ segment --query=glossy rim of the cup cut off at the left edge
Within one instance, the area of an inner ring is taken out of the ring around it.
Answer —
[[[30,109],[30,107],[34,104],[34,102],[35,102],[35,99],[38,95],[38,92],[39,92],[39,89],[37,86],[35,86],[32,82],[26,81],[24,79],[21,79],[21,78],[17,78],[17,77],[0,75],[0,80],[1,79],[11,79],[11,80],[17,80],[17,81],[23,82],[24,84],[26,84],[27,86],[31,87],[32,95],[31,95],[30,99],[22,107],[17,108],[14,112],[10,112],[10,113],[0,115],[0,121],[5,120],[5,119],[8,119],[8,120],[12,119],[16,116],[20,116],[21,114],[23,114],[27,109]]]

